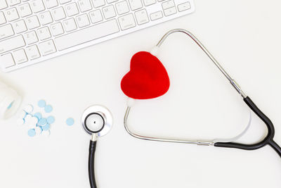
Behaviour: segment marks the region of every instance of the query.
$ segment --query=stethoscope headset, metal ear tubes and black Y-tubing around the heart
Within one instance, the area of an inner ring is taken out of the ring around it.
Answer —
[[[124,115],[124,127],[125,127],[126,131],[129,134],[131,134],[131,136],[136,137],[138,139],[145,139],[145,140],[158,141],[158,142],[176,142],[176,143],[197,144],[197,145],[207,145],[207,146],[211,145],[211,146],[228,147],[228,148],[245,149],[245,150],[260,149],[263,146],[270,145],[281,157],[281,148],[273,140],[275,130],[274,130],[274,126],[273,126],[273,123],[271,122],[271,120],[254,104],[253,101],[251,101],[249,96],[247,96],[242,91],[239,84],[237,84],[237,82],[235,82],[235,80],[233,80],[230,77],[230,75],[228,75],[228,73],[226,73],[226,70],[224,70],[223,67],[220,65],[220,63],[218,63],[218,61],[216,61],[216,58],[214,58],[214,56],[211,55],[211,53],[206,49],[206,47],[194,35],[192,35],[192,33],[188,32],[187,30],[183,30],[183,29],[170,30],[162,37],[162,39],[160,39],[158,44],[155,46],[154,49],[152,49],[152,51],[150,51],[150,53],[157,56],[157,51],[159,50],[159,47],[162,46],[164,40],[169,35],[171,35],[172,33],[175,33],[175,32],[182,32],[185,35],[188,35],[189,37],[191,37],[193,39],[193,41],[196,44],[198,44],[198,46],[200,46],[200,48],[205,52],[205,54],[207,54],[207,56],[209,56],[211,61],[214,62],[216,67],[219,70],[221,70],[221,73],[223,73],[223,75],[225,75],[225,77],[228,79],[230,84],[242,96],[243,101],[247,104],[247,106],[249,106],[249,108],[251,108],[251,111],[254,111],[254,113],[256,113],[256,115],[258,115],[259,118],[261,118],[261,120],[263,120],[263,122],[266,124],[266,127],[268,128],[268,133],[267,133],[266,137],[263,140],[261,140],[261,142],[257,142],[256,144],[240,144],[240,143],[234,142],[236,139],[242,137],[242,135],[245,132],[247,132],[249,125],[251,123],[251,113],[250,113],[249,123],[248,123],[246,129],[241,134],[237,135],[237,137],[232,138],[232,139],[214,139],[214,140],[208,140],[208,141],[205,141],[205,140],[199,141],[199,140],[189,140],[189,139],[168,139],[168,138],[164,138],[164,137],[148,137],[145,135],[135,133],[129,129],[129,124],[128,124],[129,113],[131,111],[131,108],[133,107],[134,101],[136,100],[136,99],[131,99],[131,98],[129,98],[129,100],[127,102],[126,113]]]

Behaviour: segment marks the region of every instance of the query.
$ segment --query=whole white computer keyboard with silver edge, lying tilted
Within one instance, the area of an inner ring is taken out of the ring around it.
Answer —
[[[8,72],[193,11],[193,0],[0,0],[0,66]]]

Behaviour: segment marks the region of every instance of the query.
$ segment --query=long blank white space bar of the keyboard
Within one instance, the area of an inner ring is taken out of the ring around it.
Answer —
[[[55,38],[59,51],[119,32],[115,19]]]

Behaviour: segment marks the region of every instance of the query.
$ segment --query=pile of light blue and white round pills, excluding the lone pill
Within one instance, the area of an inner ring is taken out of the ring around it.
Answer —
[[[40,100],[38,102],[40,108],[44,108],[45,113],[51,113],[53,107],[51,105],[46,105],[46,101]],[[43,115],[39,112],[34,113],[34,106],[28,104],[20,112],[18,118],[18,125],[27,126],[27,134],[30,137],[35,137],[36,135],[49,136],[51,134],[51,124],[55,122],[53,115]]]

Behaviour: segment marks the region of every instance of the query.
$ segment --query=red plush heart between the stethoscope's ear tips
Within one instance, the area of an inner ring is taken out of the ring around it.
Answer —
[[[122,91],[133,99],[153,99],[165,94],[169,87],[169,75],[164,65],[147,51],[133,55],[130,71],[121,81]]]

